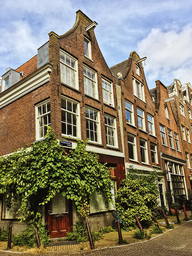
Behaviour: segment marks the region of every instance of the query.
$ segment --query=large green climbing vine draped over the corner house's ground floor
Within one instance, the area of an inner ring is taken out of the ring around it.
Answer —
[[[0,193],[5,193],[7,208],[12,198],[20,200],[21,221],[33,223],[56,193],[73,200],[83,218],[89,215],[90,194],[104,193],[106,203],[112,202],[110,171],[86,146],[87,140],[78,140],[67,154],[48,127],[43,141],[0,157]]]

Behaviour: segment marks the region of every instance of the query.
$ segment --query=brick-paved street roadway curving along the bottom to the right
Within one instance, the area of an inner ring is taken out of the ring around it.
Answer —
[[[37,256],[37,254],[17,254],[17,253],[4,253],[0,251],[1,256]],[[110,256],[110,255],[127,255],[127,256],[191,256],[192,255],[192,221],[178,226],[174,230],[166,232],[151,240],[142,243],[135,243],[130,245],[123,245],[118,247],[109,247],[88,252],[48,252],[38,254],[41,256]]]

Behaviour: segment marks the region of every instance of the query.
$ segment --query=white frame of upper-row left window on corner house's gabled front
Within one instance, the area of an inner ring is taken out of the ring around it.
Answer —
[[[77,63],[77,59],[75,59],[74,57],[72,57],[72,56],[69,55],[67,52],[65,52],[65,51],[63,51],[63,50],[61,50],[61,49],[60,49],[60,54],[61,54],[61,55],[62,55],[62,54],[65,54],[65,55],[67,55],[69,58],[71,58],[71,59],[73,59],[73,60],[75,61],[75,68],[73,68],[73,67],[69,66],[68,64],[66,64],[65,62],[61,61],[61,58],[60,58],[60,72],[61,72],[61,65],[63,65],[64,67],[70,68],[70,72],[71,72],[71,69],[72,69],[73,71],[75,71],[75,87],[73,87],[73,86],[67,84],[67,83],[66,83],[66,78],[65,78],[65,82],[61,81],[61,83],[66,84],[67,86],[70,86],[71,88],[75,88],[75,89],[79,90],[78,63]],[[65,57],[65,59],[66,59],[66,57]],[[71,63],[71,59],[70,59],[70,63]],[[62,73],[62,72],[61,72],[61,73]],[[66,72],[65,72],[65,73],[66,73]],[[64,73],[63,73],[63,74],[64,74]],[[65,74],[65,77],[66,77],[66,74]],[[71,79],[73,79],[73,78],[71,78]]]

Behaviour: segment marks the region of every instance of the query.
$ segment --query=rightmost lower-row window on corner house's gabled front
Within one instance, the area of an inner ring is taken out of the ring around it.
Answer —
[[[107,145],[116,146],[115,145],[115,119],[104,115],[105,117],[105,131],[106,131],[106,141]]]

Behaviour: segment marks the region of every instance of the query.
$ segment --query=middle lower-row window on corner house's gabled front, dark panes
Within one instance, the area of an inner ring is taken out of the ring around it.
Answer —
[[[89,138],[90,141],[99,142],[98,112],[90,108],[85,108],[85,118],[87,138]]]

